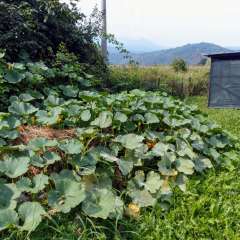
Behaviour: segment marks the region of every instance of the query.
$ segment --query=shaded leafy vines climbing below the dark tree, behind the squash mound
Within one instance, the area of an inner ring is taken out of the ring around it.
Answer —
[[[63,45],[52,67],[43,62],[10,64],[5,61],[4,53],[0,53],[0,108],[6,110],[11,98],[25,91],[32,91],[41,99],[41,94],[48,92],[49,87],[56,92],[65,89],[65,98],[69,98],[80,89],[101,87],[102,80],[87,72],[88,67],[76,61],[76,56],[68,53]]]

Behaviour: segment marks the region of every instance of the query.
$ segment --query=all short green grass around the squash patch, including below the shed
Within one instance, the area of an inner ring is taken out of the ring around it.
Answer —
[[[210,119],[240,137],[238,110],[208,109],[205,97],[187,101],[198,105]],[[11,234],[12,237],[0,235],[0,239],[27,239],[19,233]],[[68,216],[46,220],[29,239],[239,240],[240,164],[234,170],[216,169],[195,176],[189,181],[187,193],[176,190],[167,213],[156,207],[145,210],[138,220],[119,220],[116,224],[115,221],[92,222],[74,210]]]

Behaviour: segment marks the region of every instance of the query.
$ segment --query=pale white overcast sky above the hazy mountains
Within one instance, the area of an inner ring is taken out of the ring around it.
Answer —
[[[101,0],[80,0],[79,6],[88,14],[96,4]],[[108,31],[119,40],[240,46],[239,0],[107,0],[107,14]]]

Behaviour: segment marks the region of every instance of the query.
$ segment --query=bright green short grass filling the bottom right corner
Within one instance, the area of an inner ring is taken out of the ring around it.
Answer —
[[[159,208],[143,215],[137,239],[240,239],[239,187],[239,169],[196,177],[187,194],[175,195],[167,215]]]

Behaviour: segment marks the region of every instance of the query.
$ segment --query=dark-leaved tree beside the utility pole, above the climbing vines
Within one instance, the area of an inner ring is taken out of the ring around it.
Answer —
[[[101,14],[95,11],[88,21],[76,4],[59,0],[0,1],[0,48],[6,49],[9,62],[29,56],[31,61],[54,60],[64,43],[78,62],[88,64],[99,76],[106,76],[97,39],[101,34]]]

